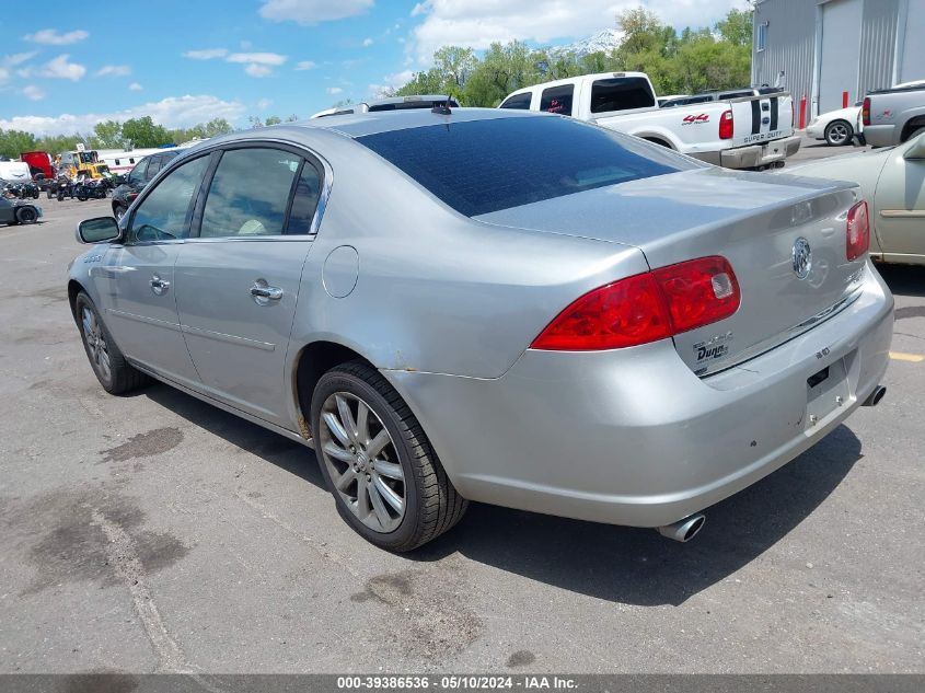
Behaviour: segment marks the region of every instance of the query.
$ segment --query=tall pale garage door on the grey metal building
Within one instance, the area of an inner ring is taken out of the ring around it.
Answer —
[[[858,46],[864,12],[862,0],[830,0],[822,5],[822,60],[819,70],[819,113],[842,107],[842,92],[857,101]]]

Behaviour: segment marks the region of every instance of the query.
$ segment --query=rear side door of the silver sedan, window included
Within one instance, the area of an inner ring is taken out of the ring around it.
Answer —
[[[180,249],[176,301],[206,392],[289,425],[284,368],[323,169],[297,150],[221,152]]]

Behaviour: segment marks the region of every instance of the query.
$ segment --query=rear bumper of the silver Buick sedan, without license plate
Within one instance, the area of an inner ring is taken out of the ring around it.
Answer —
[[[864,291],[842,312],[703,380],[670,339],[613,351],[528,350],[494,380],[383,372],[463,496],[658,527],[786,464],[879,384],[893,299],[869,263],[867,274]],[[839,372],[840,365],[843,404],[832,396],[831,407],[811,408],[807,379],[826,367]],[[814,424],[811,411],[819,414]]]

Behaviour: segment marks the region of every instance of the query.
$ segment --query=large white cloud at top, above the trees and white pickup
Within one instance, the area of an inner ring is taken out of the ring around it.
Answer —
[[[426,0],[412,10],[423,16],[415,26],[408,50],[426,65],[441,46],[484,49],[493,42],[585,37],[615,27],[615,15],[636,8],[639,0]],[[738,0],[647,0],[645,7],[672,26],[710,25]]]

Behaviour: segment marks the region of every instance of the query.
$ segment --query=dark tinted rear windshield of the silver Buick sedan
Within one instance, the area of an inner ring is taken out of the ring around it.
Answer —
[[[466,217],[697,165],[566,117],[449,123],[357,141]]]

